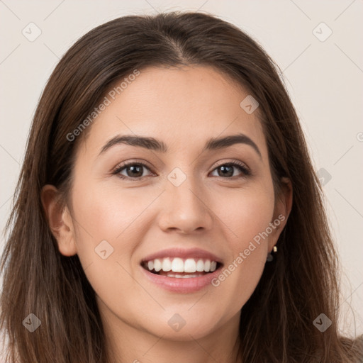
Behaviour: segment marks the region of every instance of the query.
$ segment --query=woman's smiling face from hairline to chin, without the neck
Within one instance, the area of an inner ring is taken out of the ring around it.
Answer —
[[[286,223],[258,108],[210,67],[150,67],[118,91],[77,152],[60,252],[79,255],[115,329],[190,340],[237,327]]]

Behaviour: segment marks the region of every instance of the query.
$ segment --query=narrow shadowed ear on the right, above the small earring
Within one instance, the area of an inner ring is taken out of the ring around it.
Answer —
[[[284,229],[287,219],[289,218],[293,199],[293,189],[291,180],[289,178],[281,178],[281,191],[276,196],[274,217],[270,225],[272,224],[272,233],[269,235],[269,252],[272,251],[274,245],[277,244],[279,235]],[[275,228],[273,228],[275,227]]]

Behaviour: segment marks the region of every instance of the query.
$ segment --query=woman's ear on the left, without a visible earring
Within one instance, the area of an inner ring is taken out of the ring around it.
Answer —
[[[77,254],[74,225],[67,206],[62,206],[55,186],[47,184],[41,191],[41,200],[48,225],[58,243],[60,253],[65,256]]]

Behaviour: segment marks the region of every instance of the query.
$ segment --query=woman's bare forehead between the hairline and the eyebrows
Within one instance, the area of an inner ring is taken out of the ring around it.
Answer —
[[[174,152],[197,150],[204,140],[235,133],[266,152],[258,108],[248,114],[240,106],[248,91],[212,67],[149,67],[117,89],[122,81],[108,91],[108,106],[88,130],[86,143],[94,152],[123,134],[150,135]]]

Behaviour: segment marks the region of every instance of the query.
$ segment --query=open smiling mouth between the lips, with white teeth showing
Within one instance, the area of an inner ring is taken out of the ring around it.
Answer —
[[[212,274],[222,267],[222,263],[208,258],[164,257],[142,261],[141,266],[159,276],[191,279]]]

